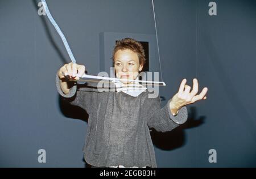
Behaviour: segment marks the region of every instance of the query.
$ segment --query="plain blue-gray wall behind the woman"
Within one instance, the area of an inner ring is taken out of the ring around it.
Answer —
[[[0,1],[0,167],[85,167],[86,113],[59,99],[55,74],[69,58],[37,2]],[[100,71],[101,32],[155,33],[150,0],[47,2],[89,74]],[[155,0],[163,105],[183,78],[209,88],[183,126],[152,132],[158,167],[256,167],[256,2],[215,1],[217,16],[209,2]]]

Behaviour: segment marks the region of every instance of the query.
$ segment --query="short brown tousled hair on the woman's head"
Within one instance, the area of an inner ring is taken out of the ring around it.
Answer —
[[[145,57],[145,52],[142,44],[137,40],[134,40],[131,38],[125,38],[117,41],[113,50],[113,56],[112,56],[113,61],[115,60],[114,59],[115,53],[118,50],[125,50],[125,49],[130,49],[131,51],[137,53],[137,56],[139,58],[139,65],[142,65],[142,66],[145,65],[146,57]]]

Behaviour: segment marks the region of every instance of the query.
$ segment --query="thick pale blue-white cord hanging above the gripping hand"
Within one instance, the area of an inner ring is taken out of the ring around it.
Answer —
[[[75,57],[73,56],[73,53],[71,52],[71,49],[69,48],[69,45],[68,45],[68,41],[66,40],[64,34],[61,32],[61,29],[59,28],[59,26],[57,25],[57,23],[55,22],[55,20],[52,18],[52,15],[51,13],[49,12],[49,9],[48,9],[48,6],[47,6],[47,3],[45,0],[41,0],[42,3],[43,3],[43,6],[44,6],[44,10],[46,11],[46,15],[48,16],[49,18],[49,21],[52,23],[52,25],[55,27],[56,31],[59,33],[60,37],[61,37],[61,40],[63,41],[63,44],[65,45],[65,48],[68,52],[68,56],[69,58],[71,59],[71,61],[73,63],[76,63],[76,59]]]

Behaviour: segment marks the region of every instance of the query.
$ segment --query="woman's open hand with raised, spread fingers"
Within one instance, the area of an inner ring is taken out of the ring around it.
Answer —
[[[172,100],[170,102],[170,109],[173,114],[176,114],[177,111],[184,105],[192,104],[202,99],[207,99],[207,97],[205,96],[208,91],[207,87],[205,87],[199,95],[196,95],[196,93],[198,92],[198,81],[196,78],[193,79],[193,90],[191,92],[191,87],[188,86],[186,82],[187,79],[182,80],[182,82],[180,83],[179,91],[172,97]]]

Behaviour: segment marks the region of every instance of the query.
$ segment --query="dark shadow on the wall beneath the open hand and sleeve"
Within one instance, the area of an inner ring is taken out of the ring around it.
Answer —
[[[184,129],[198,127],[204,123],[205,116],[197,117],[196,108],[194,106],[189,109],[187,122],[179,127],[176,127],[174,130],[162,133],[152,129],[150,134],[152,142],[156,147],[160,148],[161,150],[171,151],[184,146],[186,142]]]

